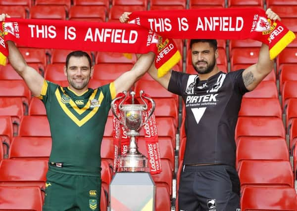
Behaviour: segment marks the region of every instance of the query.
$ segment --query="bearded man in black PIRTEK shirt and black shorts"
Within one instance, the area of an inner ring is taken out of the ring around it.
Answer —
[[[271,9],[267,17],[280,20]],[[124,13],[120,21],[128,20]],[[228,74],[216,64],[216,40],[191,40],[197,75],[171,71],[151,77],[182,96],[186,107],[187,143],[179,184],[180,211],[239,211],[240,181],[235,169],[235,127],[243,95],[253,90],[271,71],[269,49],[262,44],[258,62]]]

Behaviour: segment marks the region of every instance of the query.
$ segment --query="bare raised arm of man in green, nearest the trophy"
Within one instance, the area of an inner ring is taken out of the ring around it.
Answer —
[[[154,53],[148,52],[139,57],[132,69],[114,81],[116,94],[127,91],[140,77],[142,77],[154,60]]]

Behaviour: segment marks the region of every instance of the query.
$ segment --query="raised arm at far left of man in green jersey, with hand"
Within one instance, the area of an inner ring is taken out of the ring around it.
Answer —
[[[0,21],[4,21],[5,17],[9,18],[7,14],[0,15]],[[32,94],[39,96],[44,83],[44,78],[32,67],[29,67],[15,46],[14,42],[7,41],[9,55],[8,60],[13,69],[24,79]]]

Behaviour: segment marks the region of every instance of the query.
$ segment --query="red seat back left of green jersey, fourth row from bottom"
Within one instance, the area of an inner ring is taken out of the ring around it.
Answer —
[[[50,137],[47,116],[23,116],[19,136]]]

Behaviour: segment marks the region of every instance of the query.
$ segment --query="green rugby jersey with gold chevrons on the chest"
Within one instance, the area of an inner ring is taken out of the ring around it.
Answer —
[[[69,87],[44,82],[39,98],[45,104],[52,138],[49,169],[60,173],[99,176],[100,147],[114,84],[89,88],[77,95]]]

